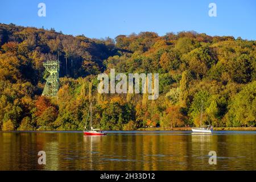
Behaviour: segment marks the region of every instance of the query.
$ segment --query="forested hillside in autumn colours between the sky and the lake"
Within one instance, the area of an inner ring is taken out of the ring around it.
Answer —
[[[41,96],[43,61],[60,60],[57,98]],[[159,73],[159,98],[99,94],[98,73]],[[193,31],[119,35],[112,40],[0,24],[0,129],[81,130],[94,126],[256,125],[256,41]]]

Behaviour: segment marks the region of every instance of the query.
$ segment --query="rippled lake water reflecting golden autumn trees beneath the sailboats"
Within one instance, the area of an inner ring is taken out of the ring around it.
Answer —
[[[46,152],[46,165],[38,152]],[[209,151],[217,164],[210,165]],[[256,170],[255,131],[0,132],[0,170]]]

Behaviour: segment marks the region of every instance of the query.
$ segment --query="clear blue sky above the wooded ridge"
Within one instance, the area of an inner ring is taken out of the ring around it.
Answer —
[[[38,4],[46,4],[46,17],[38,16]],[[208,15],[209,3],[216,3],[217,17]],[[256,1],[1,1],[0,23],[55,28],[64,34],[89,38],[115,38],[133,32],[194,30],[208,35],[231,35],[256,40]]]

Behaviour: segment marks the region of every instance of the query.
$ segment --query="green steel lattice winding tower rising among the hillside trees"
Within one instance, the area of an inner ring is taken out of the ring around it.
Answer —
[[[44,86],[42,96],[57,96],[59,90],[60,62],[51,60],[44,62],[43,65],[50,75],[46,78],[46,86]]]

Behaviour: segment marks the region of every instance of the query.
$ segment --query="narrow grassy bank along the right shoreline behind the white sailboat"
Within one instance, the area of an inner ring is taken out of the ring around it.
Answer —
[[[174,128],[164,128],[164,127],[141,127],[137,129],[138,131],[189,131],[191,127],[174,127]],[[216,131],[256,131],[256,127],[214,127],[213,130]]]

